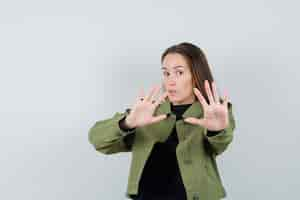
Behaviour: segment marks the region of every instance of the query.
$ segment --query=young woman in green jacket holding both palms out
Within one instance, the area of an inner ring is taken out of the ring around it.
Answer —
[[[233,139],[228,96],[219,97],[199,47],[180,43],[161,57],[161,86],[140,91],[132,108],[100,120],[89,142],[104,154],[132,152],[126,196],[134,200],[226,197],[216,156]]]

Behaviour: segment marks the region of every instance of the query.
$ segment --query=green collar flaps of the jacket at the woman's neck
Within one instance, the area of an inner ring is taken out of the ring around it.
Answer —
[[[171,102],[168,98],[160,104],[157,110],[157,114],[172,114],[171,111]],[[182,114],[183,118],[187,117],[196,117],[199,118],[201,117],[203,113],[202,105],[199,101],[195,100],[190,107]]]

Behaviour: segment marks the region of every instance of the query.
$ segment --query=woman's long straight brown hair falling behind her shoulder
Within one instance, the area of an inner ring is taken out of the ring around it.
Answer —
[[[204,81],[208,80],[211,87],[211,82],[214,81],[214,78],[203,51],[192,43],[182,42],[167,48],[161,56],[161,63],[169,53],[178,53],[184,56],[192,73],[193,87],[198,88],[206,101],[209,102],[204,87]]]

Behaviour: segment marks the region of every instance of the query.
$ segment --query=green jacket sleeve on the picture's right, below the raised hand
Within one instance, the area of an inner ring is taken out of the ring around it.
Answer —
[[[235,120],[233,117],[232,104],[228,102],[229,125],[219,132],[211,132],[204,129],[206,141],[215,155],[223,153],[233,140]]]

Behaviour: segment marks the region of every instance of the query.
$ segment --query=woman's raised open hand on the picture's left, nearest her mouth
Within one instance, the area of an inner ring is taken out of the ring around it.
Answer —
[[[136,128],[166,119],[167,115],[153,116],[156,107],[165,101],[168,93],[162,94],[158,100],[154,98],[159,94],[161,86],[152,86],[150,94],[145,96],[143,90],[140,90],[136,102],[132,106],[129,115],[125,118],[125,124],[128,128]]]

